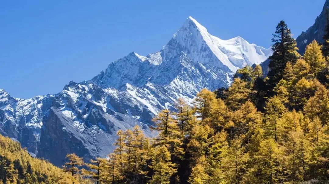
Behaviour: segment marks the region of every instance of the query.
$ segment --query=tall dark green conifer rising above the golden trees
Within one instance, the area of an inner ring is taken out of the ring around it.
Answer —
[[[298,58],[296,41],[291,37],[291,31],[285,21],[280,21],[276,27],[272,42],[273,55],[269,57],[269,72],[267,75],[270,92],[283,78],[287,62],[293,64]]]

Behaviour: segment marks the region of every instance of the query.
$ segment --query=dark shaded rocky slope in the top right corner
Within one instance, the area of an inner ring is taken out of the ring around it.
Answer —
[[[326,0],[322,12],[316,17],[315,23],[306,32],[302,32],[296,39],[299,53],[304,54],[306,46],[313,40],[323,43],[323,36],[325,34],[326,16],[329,8],[329,0]]]

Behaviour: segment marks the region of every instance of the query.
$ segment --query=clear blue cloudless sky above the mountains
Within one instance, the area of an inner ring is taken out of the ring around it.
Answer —
[[[1,0],[0,88],[13,97],[55,94],[131,51],[159,51],[192,16],[221,38],[269,47],[283,19],[294,37],[325,0]]]

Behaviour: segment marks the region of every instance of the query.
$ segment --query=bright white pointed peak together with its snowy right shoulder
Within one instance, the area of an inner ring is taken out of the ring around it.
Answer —
[[[222,40],[192,17],[174,34],[164,46],[164,60],[170,60],[178,52],[188,54],[194,62],[217,66],[225,72],[236,72],[246,65],[259,64],[272,54],[271,49],[250,44],[240,36]]]

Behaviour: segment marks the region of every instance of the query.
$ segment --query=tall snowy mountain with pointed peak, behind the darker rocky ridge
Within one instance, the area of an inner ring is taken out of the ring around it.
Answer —
[[[272,54],[241,37],[221,40],[189,17],[161,51],[140,56],[132,52],[113,63],[92,82],[104,89],[132,94],[151,112],[171,108],[182,97],[191,101],[203,88],[228,87],[237,69],[259,64]],[[149,97],[152,97],[150,99]]]

